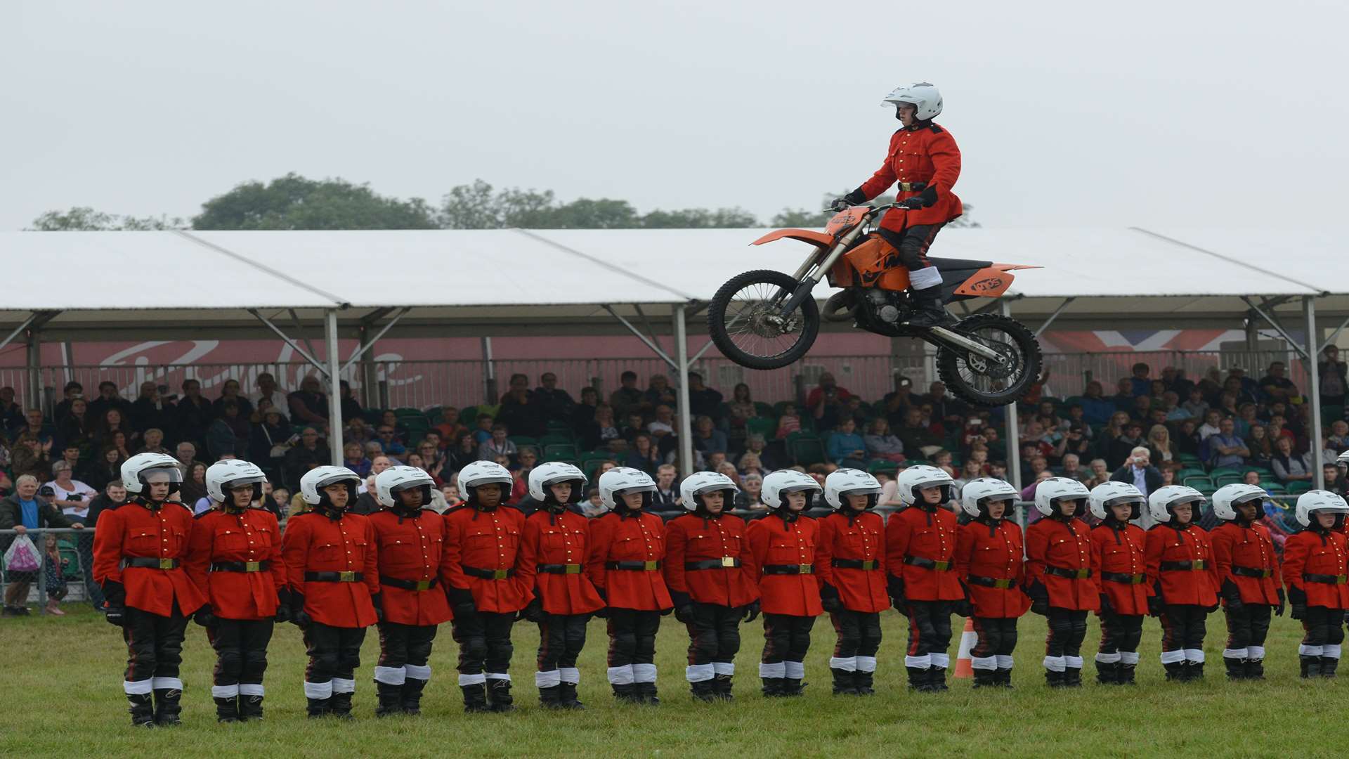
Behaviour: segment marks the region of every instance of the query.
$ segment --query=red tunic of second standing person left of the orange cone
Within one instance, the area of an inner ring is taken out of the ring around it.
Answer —
[[[851,612],[884,612],[890,606],[885,587],[885,524],[881,515],[862,512],[849,516],[834,512],[816,521],[820,528],[815,543],[815,577],[820,587],[830,583],[839,592],[843,608]],[[867,569],[835,567],[834,559],[846,563],[870,562]]]

